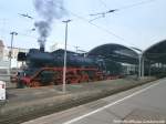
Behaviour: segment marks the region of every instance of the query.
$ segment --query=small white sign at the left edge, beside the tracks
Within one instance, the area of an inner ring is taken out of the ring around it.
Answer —
[[[6,82],[0,81],[0,101],[6,100]]]

